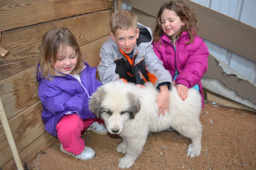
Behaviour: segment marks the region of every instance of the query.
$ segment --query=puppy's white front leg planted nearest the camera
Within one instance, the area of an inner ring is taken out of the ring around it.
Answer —
[[[129,168],[143,151],[147,136],[126,137],[126,154],[119,160],[120,168]]]

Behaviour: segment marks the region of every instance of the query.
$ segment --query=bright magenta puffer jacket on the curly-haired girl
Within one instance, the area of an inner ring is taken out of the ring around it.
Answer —
[[[195,36],[194,42],[190,41],[188,31],[184,31],[175,42],[176,53],[170,38],[163,33],[159,43],[152,43],[157,57],[163,62],[163,66],[170,72],[172,77],[177,69],[179,75],[175,79],[176,84],[183,84],[191,88],[198,84],[202,96],[202,108],[204,107],[204,96],[202,94],[201,78],[208,68],[209,51],[203,40]]]

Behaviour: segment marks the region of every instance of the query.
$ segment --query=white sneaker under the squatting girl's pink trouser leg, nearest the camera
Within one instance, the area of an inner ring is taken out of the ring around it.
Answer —
[[[66,151],[63,148],[62,143],[60,144],[60,150],[62,152],[64,152],[64,153],[67,153],[67,154],[73,156],[76,159],[81,160],[81,161],[86,161],[86,160],[92,159],[95,156],[94,150],[92,148],[90,148],[90,147],[87,147],[87,146],[84,146],[83,151],[79,155],[75,155],[75,154],[73,154],[71,152]]]

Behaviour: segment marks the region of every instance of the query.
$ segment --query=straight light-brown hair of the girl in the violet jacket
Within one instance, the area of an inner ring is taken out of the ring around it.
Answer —
[[[65,76],[55,72],[53,68],[54,64],[57,62],[57,54],[61,45],[63,46],[62,50],[65,50],[64,47],[66,45],[76,50],[77,65],[72,73],[79,74],[83,70],[84,62],[82,53],[74,35],[66,27],[54,28],[45,33],[39,51],[37,64],[39,64],[38,74],[40,74],[41,77],[47,80],[53,80],[54,76]]]

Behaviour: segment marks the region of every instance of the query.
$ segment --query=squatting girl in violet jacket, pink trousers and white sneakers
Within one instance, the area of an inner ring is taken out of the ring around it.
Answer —
[[[79,160],[95,152],[84,145],[81,133],[106,134],[105,125],[89,110],[88,100],[101,85],[96,68],[82,60],[80,47],[66,27],[48,31],[37,61],[38,95],[42,102],[45,130],[60,140],[60,150]]]

